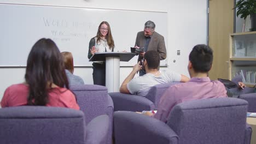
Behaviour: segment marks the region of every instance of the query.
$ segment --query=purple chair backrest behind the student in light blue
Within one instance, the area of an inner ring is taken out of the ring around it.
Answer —
[[[88,124],[91,119],[106,114],[108,103],[108,89],[99,85],[75,85],[71,91],[77,97],[80,110],[85,114],[85,122]]]

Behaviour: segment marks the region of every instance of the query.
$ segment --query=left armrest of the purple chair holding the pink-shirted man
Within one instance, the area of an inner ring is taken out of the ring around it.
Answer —
[[[164,122],[135,112],[114,112],[115,144],[178,143],[178,136]]]

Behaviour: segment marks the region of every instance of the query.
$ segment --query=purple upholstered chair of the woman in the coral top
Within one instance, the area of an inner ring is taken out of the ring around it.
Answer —
[[[85,125],[82,111],[48,106],[0,109],[0,143],[105,143],[109,117],[101,115]]]

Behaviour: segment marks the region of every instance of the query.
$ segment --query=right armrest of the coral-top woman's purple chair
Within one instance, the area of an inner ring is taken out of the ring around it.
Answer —
[[[109,117],[107,115],[97,116],[86,126],[85,143],[105,143],[109,129]]]

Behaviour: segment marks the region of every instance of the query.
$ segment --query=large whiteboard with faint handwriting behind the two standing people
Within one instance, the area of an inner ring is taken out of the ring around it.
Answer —
[[[165,37],[167,49],[167,13],[163,12],[0,3],[0,15],[0,66],[26,66],[28,53],[40,38],[53,39],[60,51],[72,52],[75,66],[91,66],[89,41],[102,21],[109,23],[119,51],[130,52],[148,20]],[[120,65],[136,62],[137,56]],[[167,59],[161,65],[167,65]]]

